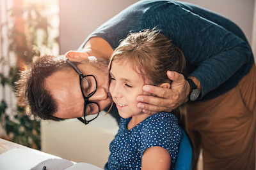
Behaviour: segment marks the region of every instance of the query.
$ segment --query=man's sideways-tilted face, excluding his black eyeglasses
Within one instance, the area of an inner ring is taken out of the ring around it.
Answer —
[[[93,74],[97,81],[97,90],[89,101],[93,101],[100,106],[100,111],[104,110],[111,103],[108,91],[109,78],[108,66],[105,62],[98,60],[78,64],[78,69],[84,74]],[[45,79],[45,89],[49,90],[55,99],[58,111],[54,117],[77,118],[83,117],[84,98],[81,92],[79,76],[70,67],[65,71],[58,71]],[[93,112],[96,114],[96,112]]]

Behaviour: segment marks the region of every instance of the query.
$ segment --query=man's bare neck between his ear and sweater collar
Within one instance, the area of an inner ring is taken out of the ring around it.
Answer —
[[[113,53],[113,49],[109,43],[105,39],[99,37],[90,38],[84,45],[83,51],[91,56],[102,57],[108,60]]]

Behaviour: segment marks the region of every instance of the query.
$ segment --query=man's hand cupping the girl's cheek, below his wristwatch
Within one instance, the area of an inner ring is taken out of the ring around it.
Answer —
[[[143,109],[144,113],[170,112],[188,101],[190,87],[184,76],[175,71],[168,71],[166,74],[173,81],[170,89],[153,85],[143,86],[143,91],[153,95],[140,95],[137,97],[137,101],[140,102],[138,103],[138,108]]]

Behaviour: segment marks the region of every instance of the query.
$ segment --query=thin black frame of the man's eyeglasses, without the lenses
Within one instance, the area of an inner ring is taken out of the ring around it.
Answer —
[[[81,92],[83,94],[83,98],[84,98],[84,119],[82,117],[78,117],[77,119],[80,120],[84,125],[87,125],[89,124],[90,122],[92,122],[92,120],[95,120],[95,118],[97,118],[99,116],[99,113],[100,113],[100,107],[99,107],[99,104],[98,103],[95,103],[95,102],[92,102],[92,101],[89,101],[89,98],[93,96],[93,94],[95,94],[96,90],[97,90],[97,80],[95,78],[95,76],[93,76],[92,74],[90,75],[84,75],[76,66],[76,64],[74,64],[72,61],[70,60],[66,60],[67,63],[72,66],[72,68],[76,71],[76,73],[79,75],[79,80],[80,80],[80,88],[81,88]],[[83,92],[83,89],[82,89],[82,80],[83,78],[85,78],[86,76],[93,76],[93,78],[95,79],[95,83],[96,83],[96,89],[93,90],[93,92],[91,92],[87,97],[84,96],[84,92]],[[86,120],[85,118],[85,112],[86,112],[86,105],[87,104],[90,104],[90,103],[94,103],[94,104],[97,104],[98,108],[99,108],[99,111],[98,111],[98,114],[95,118],[92,118],[91,120]]]

